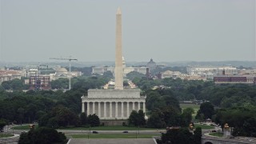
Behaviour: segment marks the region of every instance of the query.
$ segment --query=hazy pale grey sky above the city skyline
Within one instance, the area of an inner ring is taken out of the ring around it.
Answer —
[[[256,60],[254,0],[0,0],[0,62]]]

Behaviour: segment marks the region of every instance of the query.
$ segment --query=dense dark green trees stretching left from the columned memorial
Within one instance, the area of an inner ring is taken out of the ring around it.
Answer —
[[[0,90],[0,119],[8,122],[38,122],[38,119],[51,110],[62,106],[62,110],[70,110],[75,115],[81,113],[81,96],[89,89],[100,89],[108,82],[103,77],[74,78],[73,89],[65,93],[62,90],[15,90],[12,93]],[[65,108],[65,109],[64,109]]]

